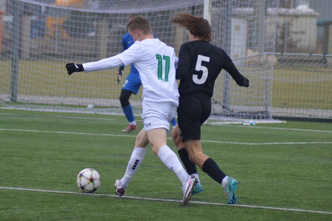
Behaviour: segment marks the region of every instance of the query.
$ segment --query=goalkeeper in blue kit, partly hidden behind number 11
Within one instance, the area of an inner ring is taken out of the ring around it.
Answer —
[[[138,16],[138,14],[132,14],[129,17],[129,22],[131,19],[135,16]],[[155,37],[153,35],[153,37]],[[129,32],[127,32],[123,37],[122,37],[122,47],[123,51],[128,49],[132,44],[134,43],[132,37],[129,35]],[[121,77],[123,76],[123,70],[124,70],[124,65],[119,67],[118,74],[117,74],[117,81],[120,84],[121,83]],[[142,85],[141,79],[139,78],[139,73],[137,69],[135,68],[134,64],[130,64],[130,72],[126,79],[124,80],[124,83],[122,85],[121,93],[120,93],[120,103],[121,107],[124,111],[124,115],[129,121],[129,124],[127,128],[125,128],[122,132],[128,133],[132,130],[137,129],[137,123],[135,121],[134,114],[132,112],[132,107],[129,103],[129,98],[131,94],[137,94],[139,87]],[[171,124],[173,128],[177,124],[175,117],[171,120]]]

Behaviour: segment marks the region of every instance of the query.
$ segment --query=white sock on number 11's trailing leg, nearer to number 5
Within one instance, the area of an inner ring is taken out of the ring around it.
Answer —
[[[182,185],[186,184],[190,176],[183,168],[178,156],[167,145],[164,145],[159,149],[158,157],[168,167],[168,169],[173,171],[178,176]]]

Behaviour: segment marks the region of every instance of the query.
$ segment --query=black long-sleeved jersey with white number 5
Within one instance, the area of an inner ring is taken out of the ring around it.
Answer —
[[[226,70],[239,86],[247,87],[245,77],[240,74],[223,49],[203,40],[182,44],[176,69],[176,78],[181,79],[180,97],[193,93],[212,97],[214,82],[221,69]]]

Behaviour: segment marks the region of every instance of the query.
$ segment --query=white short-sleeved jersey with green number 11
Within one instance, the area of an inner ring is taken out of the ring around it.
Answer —
[[[142,98],[145,101],[173,101],[179,105],[178,85],[175,79],[175,65],[178,58],[174,48],[158,38],[135,41],[123,53],[116,55],[124,65],[133,63],[143,85]]]

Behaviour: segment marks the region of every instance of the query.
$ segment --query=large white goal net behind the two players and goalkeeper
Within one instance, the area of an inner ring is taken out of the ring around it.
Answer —
[[[67,75],[68,62],[86,63],[122,52],[132,13],[146,17],[154,35],[178,54],[187,32],[176,12],[206,17],[212,44],[223,48],[250,80],[242,88],[222,71],[215,83],[210,123],[272,120],[272,70],[279,0],[4,0],[1,4],[0,107],[122,114],[117,68]],[[123,80],[129,73],[124,68]],[[141,90],[130,97],[141,113]],[[93,108],[88,109],[88,105]]]

